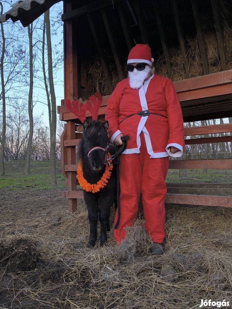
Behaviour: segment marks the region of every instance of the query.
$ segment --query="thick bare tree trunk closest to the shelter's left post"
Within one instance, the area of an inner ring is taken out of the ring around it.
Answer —
[[[51,186],[57,187],[56,182],[56,96],[53,81],[53,67],[52,67],[52,44],[51,44],[51,30],[49,10],[44,14],[46,26],[46,38],[48,49],[48,80],[51,95],[51,119],[49,119],[50,126],[50,175]]]

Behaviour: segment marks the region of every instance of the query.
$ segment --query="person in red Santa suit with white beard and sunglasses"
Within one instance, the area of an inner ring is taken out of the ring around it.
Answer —
[[[111,142],[127,148],[120,157],[120,221],[114,238],[120,243],[138,213],[142,192],[145,229],[151,236],[153,255],[163,254],[165,237],[165,177],[169,156],[180,157],[184,127],[180,103],[170,79],[153,74],[148,45],[137,44],[128,56],[128,78],[123,79],[108,100],[105,119]],[[115,222],[118,220],[118,209]]]

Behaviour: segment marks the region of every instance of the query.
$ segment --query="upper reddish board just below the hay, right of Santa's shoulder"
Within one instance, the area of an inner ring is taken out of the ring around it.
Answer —
[[[228,83],[232,83],[232,70],[183,79],[178,82],[174,82],[173,85],[178,93]]]

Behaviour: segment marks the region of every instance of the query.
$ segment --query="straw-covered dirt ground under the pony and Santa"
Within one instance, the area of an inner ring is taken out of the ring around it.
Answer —
[[[111,228],[108,247],[88,250],[82,201],[69,215],[60,190],[0,197],[0,308],[232,308],[229,208],[167,205],[165,254],[151,257],[142,212],[120,246]]]

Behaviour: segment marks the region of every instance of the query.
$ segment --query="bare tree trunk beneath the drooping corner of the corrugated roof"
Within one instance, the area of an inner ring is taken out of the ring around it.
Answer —
[[[27,155],[26,155],[26,164],[24,172],[26,175],[29,175],[30,169],[30,159],[31,159],[31,150],[32,150],[32,138],[33,138],[33,112],[32,112],[32,95],[33,95],[33,46],[32,46],[32,33],[33,25],[28,26],[28,38],[29,38],[29,70],[30,70],[30,85],[29,85],[29,95],[28,95],[28,115],[29,115],[29,137],[28,137],[28,146],[27,146]]]

